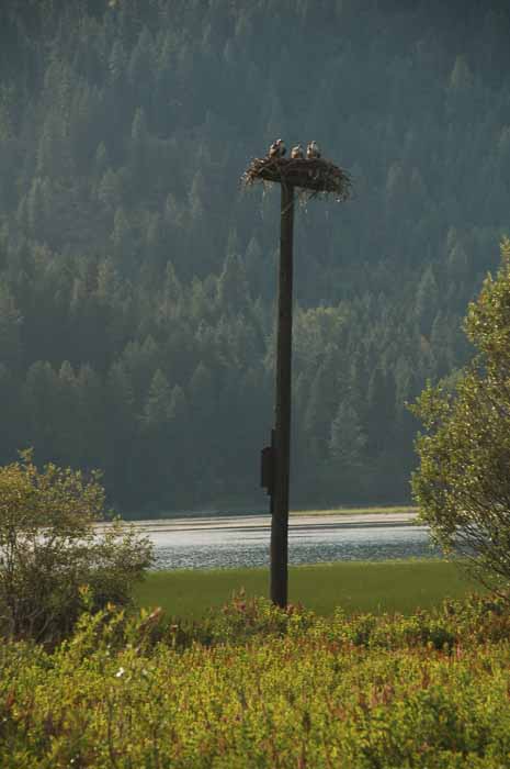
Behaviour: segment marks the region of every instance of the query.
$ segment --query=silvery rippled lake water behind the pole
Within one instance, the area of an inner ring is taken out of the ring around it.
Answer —
[[[212,517],[140,525],[155,545],[156,569],[209,569],[269,562],[267,516]],[[438,557],[428,530],[403,522],[343,523],[320,517],[291,523],[291,564]]]

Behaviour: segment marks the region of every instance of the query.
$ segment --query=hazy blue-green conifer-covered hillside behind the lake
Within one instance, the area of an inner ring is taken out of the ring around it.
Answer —
[[[510,221],[510,7],[4,0],[0,462],[99,467],[126,513],[256,504],[276,136],[347,168],[297,212],[294,502],[408,498],[405,401],[462,365]]]

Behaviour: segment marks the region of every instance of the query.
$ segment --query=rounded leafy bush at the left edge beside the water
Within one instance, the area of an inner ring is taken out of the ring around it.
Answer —
[[[99,475],[46,465],[32,453],[0,467],[0,635],[56,643],[88,597],[91,609],[131,601],[150,544],[118,522],[103,524]],[[84,588],[88,592],[83,592]]]

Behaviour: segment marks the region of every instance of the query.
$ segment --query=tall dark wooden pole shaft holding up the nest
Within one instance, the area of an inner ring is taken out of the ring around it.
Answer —
[[[279,606],[286,606],[288,594],[294,188],[283,181],[281,187],[274,483],[271,494],[271,600]]]

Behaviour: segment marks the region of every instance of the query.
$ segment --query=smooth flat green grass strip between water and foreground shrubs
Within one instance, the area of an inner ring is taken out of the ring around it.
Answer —
[[[200,617],[224,604],[234,592],[268,595],[268,569],[156,571],[137,589],[144,606],[162,606],[182,617]],[[446,598],[461,598],[478,586],[458,566],[441,560],[341,562],[290,569],[290,600],[318,614],[337,605],[348,613],[429,609]]]

